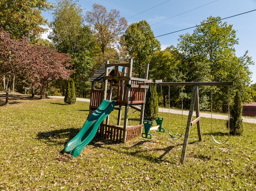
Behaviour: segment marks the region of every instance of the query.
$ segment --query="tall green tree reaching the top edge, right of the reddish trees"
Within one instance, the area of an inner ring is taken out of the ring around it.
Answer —
[[[88,80],[94,72],[92,48],[94,40],[89,26],[84,26],[80,5],[73,0],[60,0],[54,10],[49,38],[59,52],[69,53],[74,62],[73,79],[76,91],[85,96],[88,93]],[[61,82],[57,85],[63,89]]]

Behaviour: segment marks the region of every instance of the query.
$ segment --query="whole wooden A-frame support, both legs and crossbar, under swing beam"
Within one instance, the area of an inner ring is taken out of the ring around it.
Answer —
[[[186,126],[186,132],[185,132],[185,138],[184,138],[184,143],[183,143],[183,148],[182,148],[182,154],[180,158],[180,163],[184,163],[185,161],[185,156],[186,156],[186,151],[187,151],[187,146],[188,146],[188,138],[190,134],[190,127],[191,127],[191,122],[192,122],[192,117],[193,117],[193,112],[194,112],[194,107],[196,105],[196,117],[199,117],[199,99],[198,99],[198,86],[193,87],[193,92],[192,92],[192,97],[190,100],[190,108],[189,108],[189,113],[188,113],[188,122]],[[198,130],[198,138],[201,141],[201,129],[200,129],[200,120],[197,121],[197,130]]]

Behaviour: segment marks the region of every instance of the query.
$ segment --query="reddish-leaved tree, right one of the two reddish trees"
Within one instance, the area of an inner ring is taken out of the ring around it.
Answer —
[[[29,68],[26,69],[26,78],[32,83],[32,97],[40,90],[40,96],[47,96],[48,83],[58,79],[68,79],[74,72],[71,57],[64,53],[58,53],[56,49],[48,46],[30,45],[24,53],[29,57]],[[46,88],[46,89],[45,89]]]

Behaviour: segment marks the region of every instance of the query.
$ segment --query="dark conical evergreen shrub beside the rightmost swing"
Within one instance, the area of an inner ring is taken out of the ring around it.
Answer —
[[[236,92],[234,97],[234,105],[231,107],[230,110],[230,124],[229,124],[229,131],[232,135],[242,135],[244,131],[243,127],[243,119],[242,119],[242,100],[239,91]],[[228,126],[228,122],[227,122]]]

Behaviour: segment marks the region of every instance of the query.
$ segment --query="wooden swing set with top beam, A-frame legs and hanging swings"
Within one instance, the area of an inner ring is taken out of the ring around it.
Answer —
[[[170,122],[170,86],[193,86],[192,96],[191,96],[191,100],[190,100],[190,109],[189,109],[189,113],[188,113],[188,121],[187,121],[187,125],[186,125],[186,132],[185,132],[182,154],[181,154],[181,159],[180,159],[180,162],[183,164],[185,161],[186,150],[187,150],[187,146],[188,146],[188,138],[189,138],[189,134],[190,134],[190,128],[194,124],[197,124],[198,139],[199,139],[199,141],[202,141],[201,127],[200,127],[201,116],[200,116],[200,111],[199,111],[198,86],[230,86],[230,85],[234,85],[234,82],[158,82],[158,83],[151,82],[151,83],[139,83],[139,85],[169,86],[169,104],[168,104],[169,105],[169,122]],[[228,102],[229,102],[229,91],[228,91]],[[192,121],[194,109],[196,110],[196,119]],[[183,95],[182,95],[182,116],[183,116]],[[229,129],[229,118],[230,118],[230,114],[229,114],[229,104],[228,104],[228,129]],[[162,118],[162,120],[163,120],[163,118]],[[154,130],[154,127],[151,128],[152,124],[153,124],[152,121],[144,121],[145,133],[142,133],[142,137],[152,138],[152,135],[148,134],[150,130]],[[158,128],[156,128],[156,129],[158,129]],[[161,128],[162,128],[162,126],[161,126]],[[180,138],[182,136],[182,134],[178,138]],[[174,136],[172,136],[172,134],[170,132],[169,132],[169,135],[174,140],[178,139],[178,138],[175,138]],[[229,136],[230,136],[230,134],[228,133],[228,139],[229,139]],[[224,142],[218,142],[212,135],[212,96],[211,96],[211,137],[212,137],[212,140],[216,144],[224,144],[228,141],[228,139],[227,139]]]

